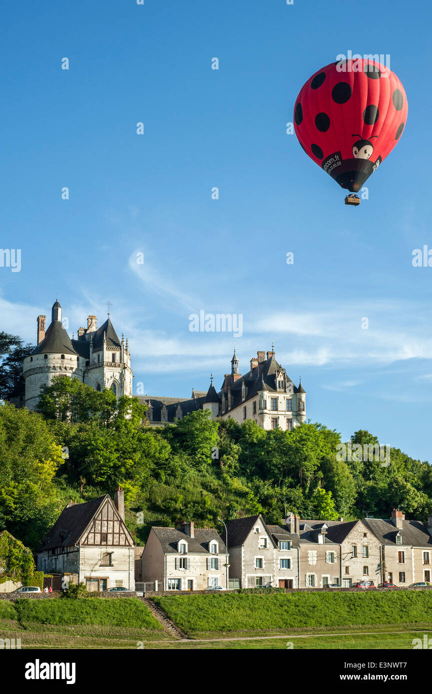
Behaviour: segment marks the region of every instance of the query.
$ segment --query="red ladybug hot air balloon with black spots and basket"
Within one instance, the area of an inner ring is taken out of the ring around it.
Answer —
[[[404,131],[408,102],[397,76],[375,60],[332,62],[301,88],[294,128],[304,151],[352,195],[378,169]]]

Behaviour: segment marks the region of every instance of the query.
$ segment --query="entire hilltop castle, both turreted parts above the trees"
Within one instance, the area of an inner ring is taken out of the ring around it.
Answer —
[[[96,316],[88,316],[87,328],[78,329],[78,339],[69,338],[62,323],[62,307],[56,301],[51,323],[45,332],[47,316],[38,316],[38,344],[24,359],[25,405],[34,409],[40,387],[49,385],[54,376],[78,378],[97,391],[111,389],[117,399],[133,394],[131,353],[128,340],[120,340],[110,321],[97,328]],[[258,351],[252,357],[250,370],[239,373],[235,354],[231,373],[226,373],[219,391],[210,378],[208,391],[192,389],[190,398],[138,396],[147,405],[147,419],[152,426],[182,419],[197,409],[210,410],[213,419],[229,417],[238,422],[255,421],[263,429],[292,431],[306,420],[306,391],[296,387],[285,369],[276,362],[272,351]]]

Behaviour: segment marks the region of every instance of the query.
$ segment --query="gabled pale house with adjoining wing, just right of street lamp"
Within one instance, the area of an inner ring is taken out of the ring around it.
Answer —
[[[261,514],[226,524],[231,588],[272,583],[297,588],[299,537],[282,525],[266,525]],[[225,531],[222,539],[226,541]],[[276,582],[276,583],[275,583]]]

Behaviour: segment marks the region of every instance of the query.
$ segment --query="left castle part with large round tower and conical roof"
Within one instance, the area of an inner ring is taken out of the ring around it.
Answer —
[[[78,378],[97,391],[111,389],[115,396],[132,396],[131,353],[128,340],[117,337],[108,320],[97,327],[96,316],[88,316],[87,328],[78,328],[78,339],[70,339],[62,323],[62,307],[56,301],[51,323],[45,332],[47,316],[38,316],[38,342],[24,359],[25,406],[35,409],[40,387],[54,376]]]

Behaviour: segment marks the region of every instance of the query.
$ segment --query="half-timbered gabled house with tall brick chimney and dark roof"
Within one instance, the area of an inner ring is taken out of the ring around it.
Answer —
[[[124,491],[77,504],[69,502],[37,553],[38,568],[84,582],[88,591],[135,589],[135,542],[124,523]]]

